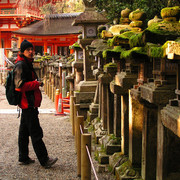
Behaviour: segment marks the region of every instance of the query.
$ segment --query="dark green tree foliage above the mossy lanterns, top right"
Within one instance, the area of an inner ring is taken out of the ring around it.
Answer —
[[[115,18],[121,17],[121,11],[129,8],[132,11],[142,9],[146,15],[147,20],[154,18],[155,15],[160,17],[161,9],[167,6],[179,6],[180,2],[177,0],[98,0],[96,3],[97,10],[105,11],[110,23]]]

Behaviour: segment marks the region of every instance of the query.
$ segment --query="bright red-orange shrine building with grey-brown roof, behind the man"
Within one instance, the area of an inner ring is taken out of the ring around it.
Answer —
[[[19,48],[24,39],[33,43],[36,54],[69,53],[68,46],[77,41],[81,30],[71,26],[79,13],[44,18],[39,10],[47,3],[58,1],[61,0],[0,0],[0,48],[4,49],[6,56],[13,46],[12,42],[16,41]]]

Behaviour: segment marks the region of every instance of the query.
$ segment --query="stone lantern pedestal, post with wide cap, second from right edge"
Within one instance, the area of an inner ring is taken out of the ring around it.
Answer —
[[[146,101],[144,104],[142,131],[143,152],[141,171],[143,179],[151,180],[156,178],[156,169],[153,168],[152,170],[152,167],[157,167],[157,144],[161,143],[157,141],[156,134],[159,134],[157,123],[159,124],[161,119],[159,114],[162,107],[169,102],[170,98],[175,97],[174,88],[174,85],[159,85],[156,81],[140,86],[141,98]]]

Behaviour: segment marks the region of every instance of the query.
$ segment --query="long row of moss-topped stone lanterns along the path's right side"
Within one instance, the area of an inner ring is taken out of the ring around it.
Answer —
[[[121,24],[101,27],[101,39],[85,34],[88,19],[94,18],[91,8],[75,20],[84,29],[76,49],[83,50],[84,81],[74,84],[74,96],[80,114],[87,113],[87,128],[93,127],[95,142],[103,147],[97,148],[99,167],[107,163],[117,179],[180,178],[179,7],[164,8],[163,19],[155,17],[148,28],[143,11],[128,10]],[[97,26],[94,29],[97,32]],[[176,49],[173,53],[168,53],[169,41]],[[171,54],[176,63],[168,59]],[[91,103],[90,87],[95,87]]]

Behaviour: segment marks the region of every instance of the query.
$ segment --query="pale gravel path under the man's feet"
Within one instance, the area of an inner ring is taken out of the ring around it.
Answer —
[[[15,108],[7,103],[4,87],[0,85],[0,109]],[[54,108],[54,103],[44,93],[41,108]],[[18,165],[17,138],[20,119],[17,114],[0,114],[0,180],[80,180],[77,177],[75,141],[69,116],[39,114],[39,119],[49,156],[58,157],[59,160],[51,169],[44,169],[40,166],[30,142],[29,155],[35,159],[35,163]],[[99,174],[98,177],[99,180],[111,179],[106,173]]]

